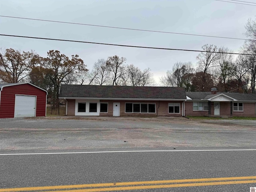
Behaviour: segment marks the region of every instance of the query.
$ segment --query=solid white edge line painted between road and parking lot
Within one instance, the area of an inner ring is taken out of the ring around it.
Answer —
[[[86,153],[128,153],[128,152],[193,152],[193,151],[256,151],[256,149],[213,149],[213,150],[142,150],[142,151],[92,151],[92,152],[63,152],[63,153],[12,153],[3,155],[52,155],[52,154],[86,154]]]

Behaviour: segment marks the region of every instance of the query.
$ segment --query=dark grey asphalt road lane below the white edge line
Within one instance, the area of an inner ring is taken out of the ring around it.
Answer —
[[[256,176],[255,156],[255,150],[9,154],[0,156],[0,186],[1,188],[22,188],[248,177]],[[191,184],[191,182],[186,183]],[[211,186],[140,189],[139,191],[247,192],[252,186],[256,186],[256,177],[254,183],[248,184],[214,184]]]

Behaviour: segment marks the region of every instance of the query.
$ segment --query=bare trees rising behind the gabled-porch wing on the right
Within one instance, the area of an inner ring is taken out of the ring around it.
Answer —
[[[256,20],[246,23],[246,37],[240,55],[234,56],[225,47],[206,44],[192,62],[176,62],[160,79],[164,86],[178,86],[186,91],[210,91],[216,87],[220,92],[256,93]],[[245,55],[244,55],[245,54]],[[247,55],[246,55],[247,54]]]

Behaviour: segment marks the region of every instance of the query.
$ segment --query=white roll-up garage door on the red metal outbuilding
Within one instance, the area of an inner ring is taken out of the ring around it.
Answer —
[[[36,96],[16,95],[14,117],[36,116]]]

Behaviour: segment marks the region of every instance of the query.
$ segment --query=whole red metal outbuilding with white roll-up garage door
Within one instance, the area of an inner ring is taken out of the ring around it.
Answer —
[[[46,116],[47,91],[31,83],[0,84],[0,118]]]

